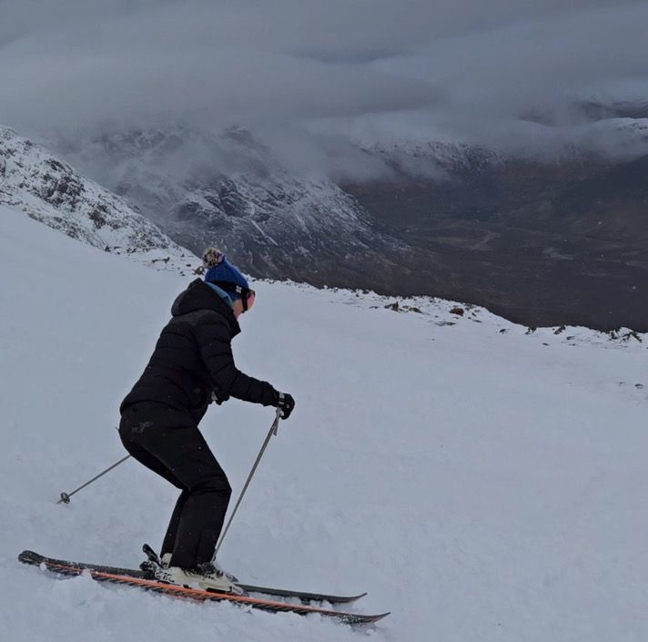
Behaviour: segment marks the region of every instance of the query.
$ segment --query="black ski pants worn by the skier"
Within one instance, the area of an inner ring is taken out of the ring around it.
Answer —
[[[182,492],[162,544],[171,566],[211,561],[232,489],[191,415],[161,403],[135,403],[122,413],[119,436],[128,453]]]

